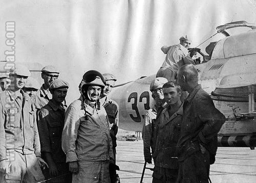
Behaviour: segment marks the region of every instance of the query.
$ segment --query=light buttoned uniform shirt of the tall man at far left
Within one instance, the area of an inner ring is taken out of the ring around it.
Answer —
[[[0,161],[11,158],[12,150],[40,156],[35,110],[23,90],[0,93]]]

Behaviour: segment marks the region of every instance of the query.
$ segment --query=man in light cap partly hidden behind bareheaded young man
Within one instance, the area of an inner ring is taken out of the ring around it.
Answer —
[[[150,164],[152,164],[152,154],[154,154],[155,141],[157,136],[157,125],[155,124],[155,120],[157,113],[162,109],[162,103],[164,99],[162,87],[167,82],[167,79],[164,77],[157,77],[154,81],[151,82],[150,85],[150,91],[152,92],[152,97],[155,100],[155,106],[152,109],[146,111],[142,127],[144,160],[146,163]]]

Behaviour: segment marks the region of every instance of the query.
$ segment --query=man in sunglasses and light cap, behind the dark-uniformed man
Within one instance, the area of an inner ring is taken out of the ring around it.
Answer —
[[[44,84],[42,84],[39,92],[35,97],[35,108],[37,110],[44,107],[49,100],[52,98],[52,94],[49,91],[49,87],[52,82],[58,79],[59,71],[52,65],[47,65],[41,70],[41,77],[44,80]]]

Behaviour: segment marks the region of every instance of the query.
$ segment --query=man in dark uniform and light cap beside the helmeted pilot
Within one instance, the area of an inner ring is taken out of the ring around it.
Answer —
[[[62,102],[67,96],[69,84],[63,80],[54,80],[49,91],[52,99],[38,112],[38,132],[41,143],[41,153],[49,166],[50,177],[57,177],[50,182],[68,183],[72,181],[66,155],[61,148],[61,135],[64,126],[66,107]],[[66,174],[66,175],[63,175]],[[62,175],[62,176],[61,176]]]

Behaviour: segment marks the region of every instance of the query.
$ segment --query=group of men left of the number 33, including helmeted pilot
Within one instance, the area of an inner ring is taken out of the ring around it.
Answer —
[[[54,66],[44,84],[22,65],[0,92],[0,182],[116,182],[118,105],[112,74],[84,73],[80,97],[66,106],[69,84]],[[111,125],[111,128],[110,128]]]

